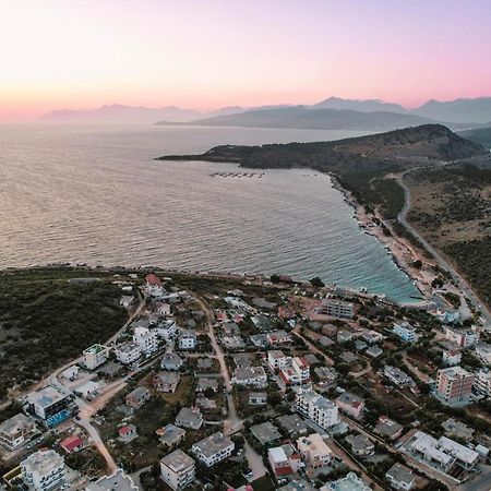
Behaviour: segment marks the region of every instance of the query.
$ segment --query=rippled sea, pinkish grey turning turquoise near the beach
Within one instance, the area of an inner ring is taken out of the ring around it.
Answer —
[[[320,276],[399,301],[417,291],[328,176],[156,161],[218,144],[360,133],[152,125],[0,125],[0,267],[49,263]],[[263,172],[262,177],[259,173]]]

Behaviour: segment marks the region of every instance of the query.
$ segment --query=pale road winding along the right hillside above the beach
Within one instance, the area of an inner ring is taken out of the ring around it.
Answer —
[[[415,169],[407,170],[406,172],[403,172],[402,175],[395,177],[397,183],[404,190],[404,206],[399,212],[397,219],[422,243],[424,249],[433,255],[439,265],[450,273],[452,279],[458,285],[460,291],[469,298],[476,310],[481,312],[481,315],[486,320],[487,325],[491,326],[490,311],[484,306],[484,303],[482,303],[480,298],[474,292],[468,283],[454,270],[454,267],[442,256],[442,254],[440,254],[433,248],[433,246],[431,246],[423,237],[421,237],[421,235],[407,221],[407,214],[411,207],[411,192],[408,185],[404,182],[404,177],[412,170]]]

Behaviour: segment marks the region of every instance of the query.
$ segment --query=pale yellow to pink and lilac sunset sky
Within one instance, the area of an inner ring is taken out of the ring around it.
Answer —
[[[490,0],[0,0],[0,120],[491,96]]]

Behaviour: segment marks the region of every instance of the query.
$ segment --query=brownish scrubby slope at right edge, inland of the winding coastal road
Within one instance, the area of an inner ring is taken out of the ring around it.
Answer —
[[[491,170],[452,166],[415,172],[409,220],[491,301]]]

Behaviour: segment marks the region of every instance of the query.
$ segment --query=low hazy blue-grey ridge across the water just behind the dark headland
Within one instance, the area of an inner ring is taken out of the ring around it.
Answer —
[[[202,127],[297,128],[309,130],[368,130],[388,131],[434,122],[409,113],[391,111],[358,111],[352,109],[313,109],[304,106],[255,109],[238,115],[203,118],[180,124]],[[175,121],[159,121],[173,125]]]

